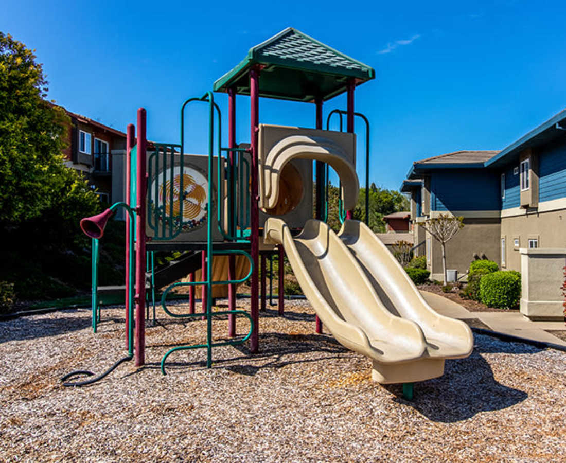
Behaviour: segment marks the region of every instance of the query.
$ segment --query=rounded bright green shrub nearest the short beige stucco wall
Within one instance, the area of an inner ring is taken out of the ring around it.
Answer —
[[[480,295],[488,307],[512,308],[521,298],[521,278],[518,272],[494,272],[482,277]]]

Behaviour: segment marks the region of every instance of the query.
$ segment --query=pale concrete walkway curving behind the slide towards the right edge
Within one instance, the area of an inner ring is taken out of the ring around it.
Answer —
[[[564,321],[531,321],[520,312],[470,312],[460,304],[438,294],[428,293],[428,291],[421,291],[421,294],[439,314],[464,321],[468,320],[472,326],[474,326],[474,323],[471,320],[479,320],[486,325],[487,329],[504,335],[566,346],[566,341],[546,331],[566,331]]]

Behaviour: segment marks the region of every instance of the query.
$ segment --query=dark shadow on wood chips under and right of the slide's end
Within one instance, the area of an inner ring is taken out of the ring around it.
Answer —
[[[540,350],[531,345],[476,335],[470,357],[448,360],[443,376],[415,383],[413,401],[402,398],[400,384],[384,387],[396,395],[396,402],[413,407],[431,421],[463,421],[482,411],[511,407],[529,396],[520,389],[498,383],[482,353],[533,354]]]

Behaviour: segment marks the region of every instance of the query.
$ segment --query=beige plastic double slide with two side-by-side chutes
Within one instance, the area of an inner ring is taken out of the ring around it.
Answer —
[[[346,220],[337,235],[309,220],[293,238],[284,221],[268,218],[265,242],[284,246],[316,314],[340,344],[372,359],[375,381],[436,378],[445,359],[471,353],[468,325],[435,312],[363,222]]]

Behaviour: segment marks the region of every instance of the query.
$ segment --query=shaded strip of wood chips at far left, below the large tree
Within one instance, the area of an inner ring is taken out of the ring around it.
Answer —
[[[78,309],[68,309],[74,312]],[[7,341],[22,341],[40,337],[57,336],[79,331],[91,325],[88,317],[40,318],[21,317],[0,323],[0,344]]]

